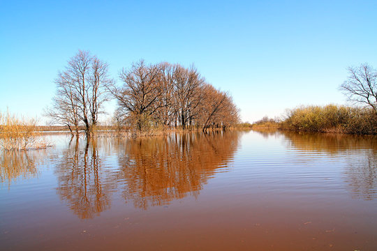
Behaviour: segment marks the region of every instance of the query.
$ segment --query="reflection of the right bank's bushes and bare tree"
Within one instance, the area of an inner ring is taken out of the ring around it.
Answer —
[[[349,184],[352,196],[368,200],[376,199],[376,136],[279,133],[288,139],[289,147],[308,153],[325,153],[334,160],[345,161],[346,183]]]

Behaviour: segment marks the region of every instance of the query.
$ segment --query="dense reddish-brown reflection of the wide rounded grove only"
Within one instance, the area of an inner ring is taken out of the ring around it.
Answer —
[[[186,195],[196,197],[216,169],[228,166],[239,137],[240,132],[215,132],[122,142],[118,155],[124,198],[147,209]]]

